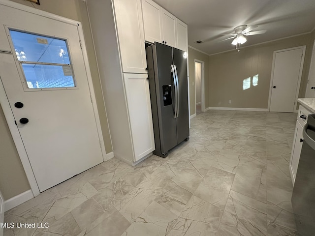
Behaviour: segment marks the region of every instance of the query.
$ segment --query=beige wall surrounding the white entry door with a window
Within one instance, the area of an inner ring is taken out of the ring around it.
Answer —
[[[82,0],[40,0],[40,5],[37,5],[26,0],[12,1],[82,22],[105,148],[107,153],[111,152],[112,144],[85,2]],[[7,200],[30,189],[30,185],[2,110],[0,111],[0,131],[0,189],[4,199]]]

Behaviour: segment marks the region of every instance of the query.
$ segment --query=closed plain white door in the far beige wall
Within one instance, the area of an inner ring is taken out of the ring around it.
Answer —
[[[304,48],[274,54],[271,112],[294,112],[302,75]]]

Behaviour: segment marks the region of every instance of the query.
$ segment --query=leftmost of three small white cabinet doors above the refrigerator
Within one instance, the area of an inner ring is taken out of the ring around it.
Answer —
[[[162,42],[161,9],[152,0],[142,0],[144,37],[148,42]]]

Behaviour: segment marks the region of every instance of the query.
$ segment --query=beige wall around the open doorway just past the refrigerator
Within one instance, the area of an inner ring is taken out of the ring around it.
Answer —
[[[196,113],[195,102],[195,59],[204,61],[205,66],[205,108],[209,107],[209,56],[200,53],[192,48],[188,48],[189,55],[189,99],[190,99],[190,116]],[[192,85],[193,83],[193,85]]]

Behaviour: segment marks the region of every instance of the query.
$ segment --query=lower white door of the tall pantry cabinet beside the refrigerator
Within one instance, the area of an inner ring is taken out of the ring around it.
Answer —
[[[148,75],[124,74],[134,161],[155,150]]]

